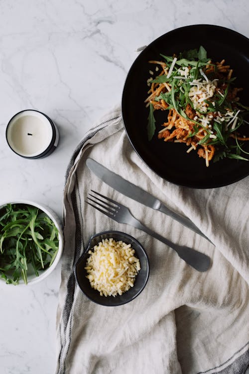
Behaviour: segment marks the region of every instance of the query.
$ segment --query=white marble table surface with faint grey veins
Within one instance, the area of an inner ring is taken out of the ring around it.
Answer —
[[[137,48],[197,23],[249,37],[248,20],[248,0],[1,0],[0,202],[31,199],[62,220],[71,154],[121,102]],[[59,146],[49,157],[26,160],[8,148],[6,124],[23,109],[42,111],[58,126]],[[33,286],[0,282],[0,374],[55,372],[59,285],[60,264]]]

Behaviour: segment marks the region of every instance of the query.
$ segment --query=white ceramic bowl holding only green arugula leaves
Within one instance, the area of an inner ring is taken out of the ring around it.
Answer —
[[[56,255],[52,265],[50,267],[48,267],[46,270],[39,271],[39,276],[36,276],[33,269],[29,268],[28,272],[27,272],[27,285],[24,283],[23,279],[21,279],[21,278],[19,279],[19,282],[16,285],[16,286],[29,286],[29,285],[32,285],[34,283],[42,281],[49,274],[51,274],[52,271],[57,266],[58,262],[60,261],[60,258],[62,256],[62,252],[63,252],[63,244],[64,244],[63,231],[62,231],[60,219],[57,216],[57,214],[55,214],[50,208],[48,208],[47,206],[45,206],[43,204],[39,204],[37,202],[34,202],[34,201],[22,200],[22,199],[18,199],[18,200],[14,200],[14,201],[5,201],[5,202],[0,203],[0,209],[6,204],[25,204],[25,205],[35,206],[35,207],[39,208],[40,210],[42,210],[54,222],[56,228],[58,229],[59,248],[58,248],[57,255]],[[0,277],[0,281],[5,283],[5,280],[1,277]],[[12,284],[7,284],[6,286],[9,287],[10,285],[12,285]]]

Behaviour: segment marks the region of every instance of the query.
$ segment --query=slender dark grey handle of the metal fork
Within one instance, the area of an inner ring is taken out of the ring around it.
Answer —
[[[134,218],[134,217],[133,217]],[[173,243],[172,241],[164,238],[163,236],[157,234],[155,231],[151,230],[147,226],[144,226],[138,219],[134,218],[132,220],[132,226],[135,226],[136,228],[146,232],[153,238],[160,240],[164,244],[168,245],[170,248],[174,249],[178,256],[183,259],[187,264],[192,266],[198,271],[206,271],[210,267],[211,259],[204,253],[201,253],[193,248],[189,248],[186,245],[178,245]]]

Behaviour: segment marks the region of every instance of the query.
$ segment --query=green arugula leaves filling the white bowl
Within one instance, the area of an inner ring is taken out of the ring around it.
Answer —
[[[0,210],[0,276],[6,283],[27,284],[29,268],[36,276],[54,261],[58,229],[39,208],[21,203]]]

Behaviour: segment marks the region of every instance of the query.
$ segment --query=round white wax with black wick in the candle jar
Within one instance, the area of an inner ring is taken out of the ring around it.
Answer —
[[[51,143],[52,135],[49,120],[42,113],[33,110],[14,116],[6,133],[12,150],[24,157],[38,156],[44,152]]]

